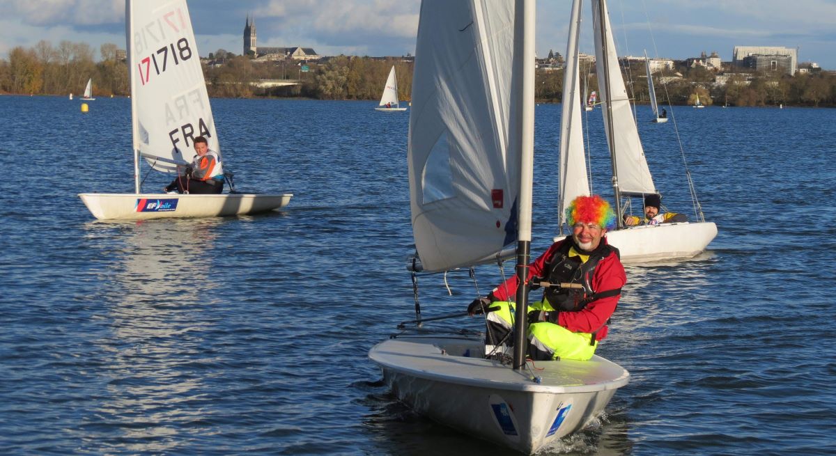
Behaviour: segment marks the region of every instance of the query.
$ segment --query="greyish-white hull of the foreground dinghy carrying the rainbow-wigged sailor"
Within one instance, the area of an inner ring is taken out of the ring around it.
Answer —
[[[536,362],[543,369],[537,383],[528,370],[482,354],[482,342],[473,339],[398,337],[372,347],[369,357],[418,413],[528,454],[584,428],[630,379],[623,367],[596,356]]]

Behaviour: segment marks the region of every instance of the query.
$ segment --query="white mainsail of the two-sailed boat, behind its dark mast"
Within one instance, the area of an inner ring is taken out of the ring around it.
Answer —
[[[621,77],[618,55],[615,51],[612,28],[609,24],[609,12],[606,2],[593,2],[593,23],[595,36],[595,64],[598,68],[598,87],[601,92],[599,99],[604,114],[604,128],[612,134],[607,134],[609,150],[614,155],[614,175],[618,179],[619,191],[630,194],[655,193],[653,178],[645,160],[645,151],[641,147],[639,131],[635,126],[633,111],[630,109],[630,99],[624,88]],[[604,26],[605,43],[601,38],[601,27]],[[605,54],[604,54],[605,53]],[[606,55],[609,73],[604,69],[604,55]],[[608,85],[609,83],[609,85]],[[609,94],[608,94],[609,92]],[[607,106],[607,99],[612,106]],[[609,125],[606,109],[612,110],[613,125]]]

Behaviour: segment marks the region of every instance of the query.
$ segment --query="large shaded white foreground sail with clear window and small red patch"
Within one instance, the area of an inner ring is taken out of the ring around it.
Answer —
[[[517,241],[513,14],[502,0],[421,4],[408,161],[426,271],[473,265]]]

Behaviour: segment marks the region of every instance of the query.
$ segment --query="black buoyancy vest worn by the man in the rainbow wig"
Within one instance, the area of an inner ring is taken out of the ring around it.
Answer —
[[[584,286],[583,290],[550,286],[543,291],[543,299],[547,300],[555,310],[561,312],[579,312],[591,301],[602,297],[616,296],[621,292],[619,288],[596,293],[592,287],[595,267],[611,253],[615,252],[615,255],[619,255],[618,249],[602,242],[597,249],[589,253],[589,259],[582,262],[578,256],[569,256],[569,249],[573,246],[572,237],[568,236],[553,256],[546,261],[543,271],[550,283],[568,282],[579,283]],[[580,253],[578,248],[575,251]]]

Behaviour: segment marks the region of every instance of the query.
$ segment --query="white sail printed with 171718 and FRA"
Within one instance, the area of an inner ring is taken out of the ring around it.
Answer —
[[[221,153],[186,0],[126,0],[134,149],[155,169],[175,171],[205,136]]]

